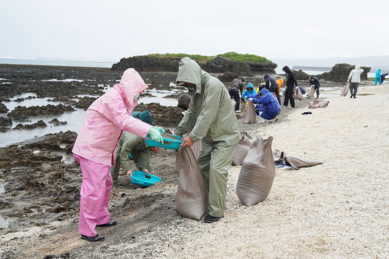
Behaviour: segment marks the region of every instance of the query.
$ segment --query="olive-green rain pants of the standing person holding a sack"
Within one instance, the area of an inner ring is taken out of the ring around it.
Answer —
[[[198,167],[209,193],[209,214],[213,217],[224,215],[228,170],[237,147],[238,144],[231,146],[215,145],[209,152],[202,149],[198,155]]]

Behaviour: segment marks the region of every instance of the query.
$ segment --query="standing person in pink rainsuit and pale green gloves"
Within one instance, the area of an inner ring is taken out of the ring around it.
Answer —
[[[81,166],[80,220],[78,233],[89,242],[104,240],[95,227],[117,224],[107,211],[112,189],[110,167],[115,165],[116,146],[122,131],[141,138],[147,134],[163,143],[162,128],[153,127],[131,116],[137,99],[148,86],[135,69],[124,71],[120,84],[94,101],[88,108],[73,147],[73,156]]]

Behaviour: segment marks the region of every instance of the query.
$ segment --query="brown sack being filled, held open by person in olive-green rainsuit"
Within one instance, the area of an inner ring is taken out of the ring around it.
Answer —
[[[200,220],[208,209],[208,190],[190,147],[177,151],[176,172],[177,211],[184,217]]]

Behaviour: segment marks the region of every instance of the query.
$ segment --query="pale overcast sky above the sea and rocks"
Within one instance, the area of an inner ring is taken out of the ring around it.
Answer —
[[[388,3],[1,0],[0,56],[118,61],[148,53],[389,55]]]

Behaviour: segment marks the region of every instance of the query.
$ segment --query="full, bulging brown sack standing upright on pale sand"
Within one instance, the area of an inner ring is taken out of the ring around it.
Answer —
[[[236,194],[244,205],[255,205],[269,195],[276,176],[271,151],[272,141],[273,137],[255,139],[243,160],[236,184]]]

